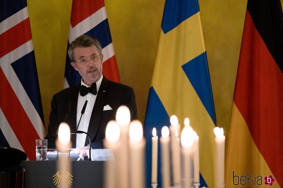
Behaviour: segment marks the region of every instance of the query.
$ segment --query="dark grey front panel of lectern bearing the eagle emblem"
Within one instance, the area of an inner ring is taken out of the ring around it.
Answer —
[[[57,161],[22,161],[25,169],[25,187],[56,188]],[[103,161],[70,161],[72,183],[70,187],[103,187]],[[54,176],[54,177],[53,177]],[[58,177],[60,178],[60,177]]]

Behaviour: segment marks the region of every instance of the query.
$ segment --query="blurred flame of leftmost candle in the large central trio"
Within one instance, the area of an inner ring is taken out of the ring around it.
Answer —
[[[120,126],[114,120],[109,121],[105,131],[105,138],[111,143],[115,143],[120,138]]]

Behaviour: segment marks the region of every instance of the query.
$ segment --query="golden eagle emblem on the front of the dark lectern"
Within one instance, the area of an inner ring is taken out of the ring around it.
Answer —
[[[57,185],[57,187],[69,187],[71,183],[73,183],[72,176],[68,171],[58,171],[54,176],[53,183]]]

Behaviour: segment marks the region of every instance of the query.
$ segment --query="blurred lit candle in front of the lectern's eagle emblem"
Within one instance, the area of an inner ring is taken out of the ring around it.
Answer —
[[[59,125],[58,129],[58,140],[56,140],[56,147],[60,150],[66,150],[71,147],[70,143],[70,127],[66,123],[61,123]],[[69,151],[69,150],[67,150]],[[59,164],[58,164],[59,163]],[[67,174],[71,172],[71,164],[70,161],[68,160],[68,155],[60,155],[59,157],[59,162],[57,163],[57,171],[63,171],[64,173],[61,173],[61,178],[63,180],[71,177],[67,177]],[[72,181],[72,179],[71,179]],[[71,184],[67,183],[66,181],[62,182],[60,187],[66,188],[69,187]]]

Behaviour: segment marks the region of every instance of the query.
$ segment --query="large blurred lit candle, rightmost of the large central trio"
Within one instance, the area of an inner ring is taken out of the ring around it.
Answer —
[[[131,188],[143,188],[144,182],[144,147],[142,123],[138,120],[131,122],[129,130],[131,155]]]

